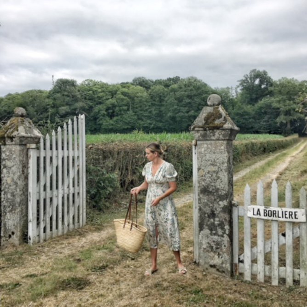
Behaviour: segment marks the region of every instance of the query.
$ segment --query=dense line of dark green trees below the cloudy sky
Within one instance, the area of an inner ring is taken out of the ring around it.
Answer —
[[[222,105],[241,133],[302,133],[307,113],[307,81],[273,80],[266,71],[251,70],[235,88],[212,88],[196,77],[108,84],[97,80],[58,79],[48,90],[29,90],[0,97],[0,121],[23,107],[42,133],[86,115],[88,134],[188,131],[210,94]]]

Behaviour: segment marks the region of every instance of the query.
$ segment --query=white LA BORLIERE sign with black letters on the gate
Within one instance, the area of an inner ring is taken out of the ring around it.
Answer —
[[[248,206],[247,216],[263,220],[306,222],[306,210],[296,208]]]

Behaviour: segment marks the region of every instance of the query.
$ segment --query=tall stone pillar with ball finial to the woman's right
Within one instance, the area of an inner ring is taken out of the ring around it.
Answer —
[[[219,95],[210,95],[207,103],[190,127],[195,138],[194,260],[231,276],[233,140],[239,128],[220,105]]]

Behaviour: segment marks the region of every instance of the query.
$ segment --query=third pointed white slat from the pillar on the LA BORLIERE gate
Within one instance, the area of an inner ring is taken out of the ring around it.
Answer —
[[[278,207],[278,186],[274,180],[271,188],[271,207]],[[278,221],[271,221],[271,237],[272,237],[272,251],[271,251],[271,273],[272,285],[278,285]]]

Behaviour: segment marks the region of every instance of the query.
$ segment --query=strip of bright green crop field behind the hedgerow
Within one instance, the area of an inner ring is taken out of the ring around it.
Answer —
[[[244,140],[265,140],[283,138],[277,134],[238,134],[237,141]],[[170,142],[170,141],[192,141],[193,135],[188,132],[183,133],[159,133],[146,134],[134,132],[130,134],[87,134],[87,144],[100,144],[111,142]]]

